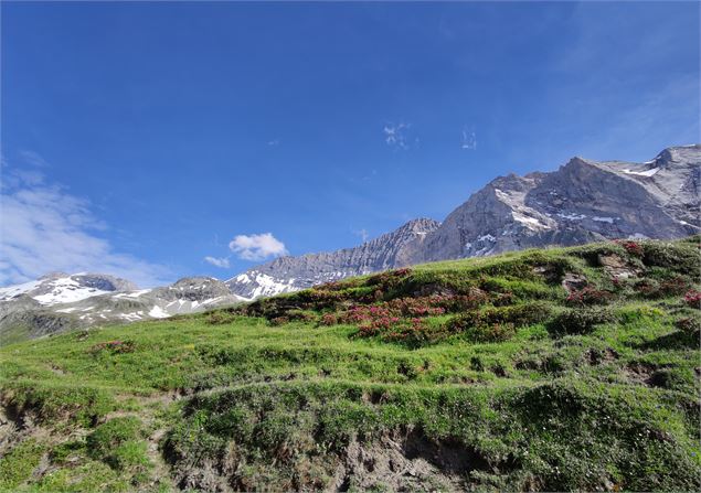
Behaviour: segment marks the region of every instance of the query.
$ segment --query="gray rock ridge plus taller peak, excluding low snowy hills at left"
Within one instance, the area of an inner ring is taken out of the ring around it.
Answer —
[[[701,231],[701,144],[652,161],[573,158],[557,171],[500,176],[439,224],[412,221],[359,247],[284,257],[226,285],[253,299],[389,268],[606,238],[676,238]]]

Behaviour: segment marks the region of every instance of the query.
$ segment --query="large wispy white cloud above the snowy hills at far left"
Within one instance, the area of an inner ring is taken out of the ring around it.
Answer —
[[[41,173],[3,165],[0,187],[0,285],[50,271],[111,274],[140,286],[167,282],[171,272],[115,250],[91,203]]]

